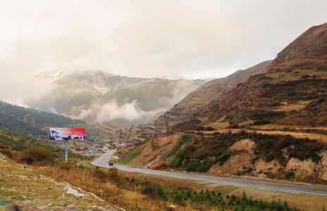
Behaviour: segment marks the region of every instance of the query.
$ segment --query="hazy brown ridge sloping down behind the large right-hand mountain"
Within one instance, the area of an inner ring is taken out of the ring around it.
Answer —
[[[170,127],[189,120],[192,115],[205,110],[212,103],[218,102],[230,89],[235,88],[237,84],[244,82],[252,75],[261,74],[268,70],[271,62],[271,60],[268,60],[254,65],[252,68],[238,70],[228,77],[214,79],[202,85],[199,89],[188,94],[178,104],[175,104],[171,110],[161,115],[154,124],[164,124],[166,127]]]

